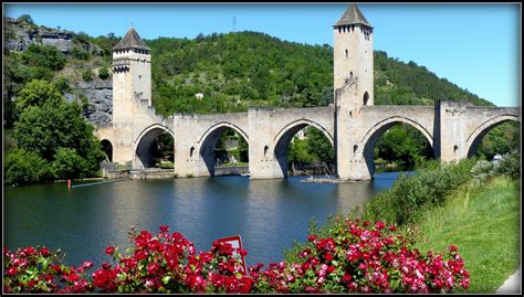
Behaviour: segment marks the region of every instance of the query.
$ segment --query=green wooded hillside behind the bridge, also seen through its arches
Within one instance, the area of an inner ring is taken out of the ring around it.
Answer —
[[[93,38],[83,32],[39,26],[30,15],[22,15],[10,22],[4,19],[4,42],[15,40],[20,32],[34,35],[42,30],[71,33],[71,49],[60,51],[39,43],[38,38],[23,50],[4,47],[4,129],[17,130],[17,125],[21,125],[24,110],[17,108],[17,100],[24,88],[34,87],[28,86],[33,79],[48,82],[84,110],[92,106],[77,85],[111,79],[111,50],[120,38],[114,33]],[[328,44],[300,44],[259,32],[145,42],[151,47],[153,104],[164,116],[176,112],[234,113],[245,112],[248,106],[313,107],[333,103],[333,47]],[[382,51],[376,51],[374,59],[376,105],[433,105],[437,100],[492,105],[412,61],[405,63]],[[333,161],[331,145],[318,145],[327,140],[311,129],[307,134],[311,140],[296,140],[290,146],[289,161]],[[18,148],[20,135],[12,135],[4,138],[7,150]],[[479,153],[491,158],[520,147],[518,141],[520,126],[504,124],[484,138]],[[313,144],[325,149],[312,148]],[[397,125],[378,141],[375,159],[378,163],[413,166],[432,157],[427,145],[415,129]]]

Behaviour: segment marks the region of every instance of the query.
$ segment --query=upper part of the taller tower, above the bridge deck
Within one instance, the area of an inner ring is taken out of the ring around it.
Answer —
[[[373,26],[352,3],[334,28],[334,88],[356,86],[356,97],[344,96],[338,104],[350,108],[373,105]]]

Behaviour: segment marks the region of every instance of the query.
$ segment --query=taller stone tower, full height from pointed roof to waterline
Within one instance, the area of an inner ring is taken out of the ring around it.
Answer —
[[[356,4],[333,28],[337,174],[343,180],[360,180],[366,178],[360,174],[366,163],[355,131],[365,121],[363,107],[374,104],[373,28]]]

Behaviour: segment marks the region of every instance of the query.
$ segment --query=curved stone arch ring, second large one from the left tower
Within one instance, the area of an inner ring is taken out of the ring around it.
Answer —
[[[249,145],[248,134],[234,124],[220,121],[209,127],[198,142],[200,144],[200,158],[206,163],[211,177],[214,176],[214,148],[222,134],[228,129],[237,131]]]

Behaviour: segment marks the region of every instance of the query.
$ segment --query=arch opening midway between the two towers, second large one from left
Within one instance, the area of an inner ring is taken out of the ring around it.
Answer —
[[[240,176],[249,171],[249,145],[243,134],[230,126],[212,130],[200,146],[209,174]]]

